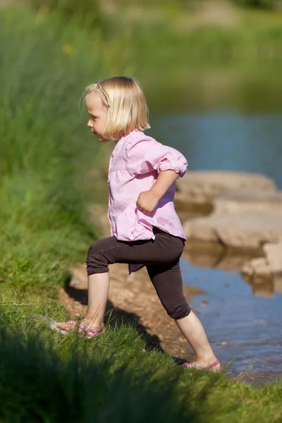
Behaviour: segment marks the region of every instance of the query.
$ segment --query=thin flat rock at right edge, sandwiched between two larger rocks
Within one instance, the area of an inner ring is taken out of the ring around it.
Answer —
[[[214,214],[277,212],[282,214],[282,192],[228,190],[214,199]]]

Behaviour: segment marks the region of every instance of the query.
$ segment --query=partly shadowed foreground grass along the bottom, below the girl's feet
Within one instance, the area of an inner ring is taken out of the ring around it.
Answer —
[[[145,350],[128,323],[90,341],[23,321],[18,309],[0,314],[1,422],[281,421],[281,381],[254,388],[183,371],[168,355]],[[56,305],[47,312],[62,315]]]

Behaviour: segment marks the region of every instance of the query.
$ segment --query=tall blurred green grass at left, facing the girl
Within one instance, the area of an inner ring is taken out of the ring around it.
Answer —
[[[100,151],[79,108],[109,55],[99,27],[22,9],[1,10],[0,37],[0,288],[56,296],[97,238],[83,184]]]

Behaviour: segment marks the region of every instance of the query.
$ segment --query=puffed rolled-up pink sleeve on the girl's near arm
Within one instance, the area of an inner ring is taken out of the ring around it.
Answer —
[[[188,166],[187,160],[177,149],[155,140],[141,140],[128,145],[127,164],[133,175],[170,170],[178,173],[178,178],[183,178]]]

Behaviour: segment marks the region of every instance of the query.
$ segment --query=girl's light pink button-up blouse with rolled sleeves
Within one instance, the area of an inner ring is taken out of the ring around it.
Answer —
[[[170,169],[182,178],[187,166],[185,157],[178,150],[162,145],[139,130],[122,137],[109,162],[108,217],[111,235],[123,241],[149,240],[155,238],[152,226],[157,226],[186,240],[173,204],[176,183],[168,188],[157,208],[149,215],[137,209],[136,202],[140,192],[152,188],[159,171]],[[129,274],[143,266],[145,264],[129,264]]]

